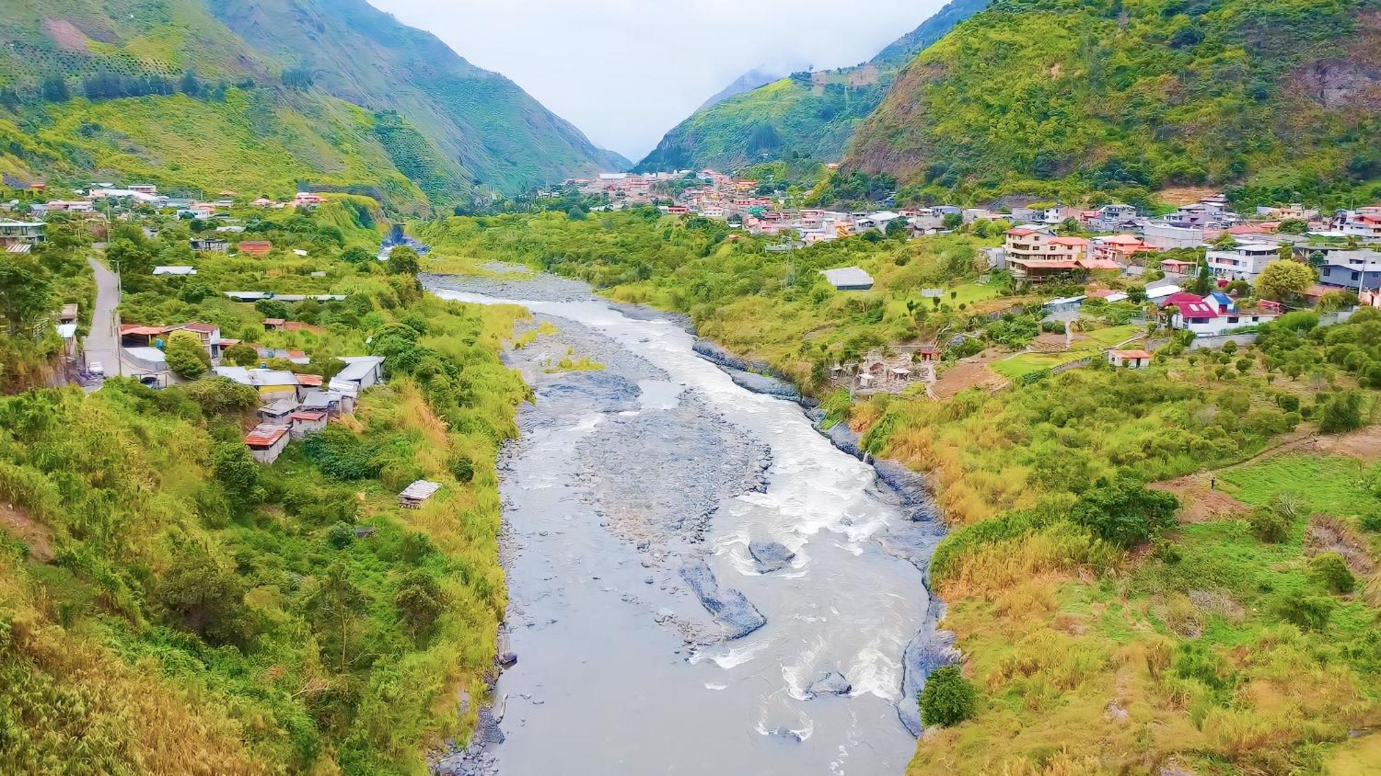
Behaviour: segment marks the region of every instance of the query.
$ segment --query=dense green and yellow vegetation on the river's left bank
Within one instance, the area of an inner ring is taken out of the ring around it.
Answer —
[[[264,258],[182,257],[188,224],[152,213],[115,226],[124,320],[211,322],[326,376],[385,356],[354,416],[264,467],[242,442],[258,396],[224,378],[0,399],[0,770],[418,773],[474,721],[505,608],[494,458],[526,396],[497,351],[525,312],[388,273],[345,197],[291,213],[236,214]],[[199,273],[144,269],[168,257]],[[348,297],[255,309],[232,287]],[[442,489],[399,508],[423,476]]]

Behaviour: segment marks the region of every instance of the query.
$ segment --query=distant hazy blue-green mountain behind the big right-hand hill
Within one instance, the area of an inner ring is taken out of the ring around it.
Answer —
[[[736,168],[789,153],[836,160],[910,55],[986,4],[987,0],[952,0],[862,65],[793,73],[711,102],[667,133],[637,170]]]

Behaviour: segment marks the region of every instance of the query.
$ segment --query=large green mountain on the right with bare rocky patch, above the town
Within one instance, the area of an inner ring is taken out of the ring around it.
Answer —
[[[1290,202],[1367,185],[1381,175],[1378,8],[998,0],[913,58],[845,173],[979,202],[1200,185]]]

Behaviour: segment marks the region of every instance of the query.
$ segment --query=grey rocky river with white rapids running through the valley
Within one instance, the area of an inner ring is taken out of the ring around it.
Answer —
[[[557,327],[507,356],[536,394],[500,458],[518,661],[438,770],[900,773],[916,692],[954,656],[916,479],[887,485],[670,316],[548,276],[425,283]]]

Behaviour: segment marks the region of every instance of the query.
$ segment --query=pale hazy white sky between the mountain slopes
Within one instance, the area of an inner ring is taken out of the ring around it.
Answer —
[[[856,65],[945,0],[369,0],[637,162],[762,64]]]

